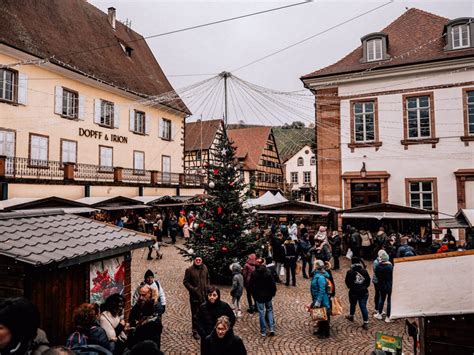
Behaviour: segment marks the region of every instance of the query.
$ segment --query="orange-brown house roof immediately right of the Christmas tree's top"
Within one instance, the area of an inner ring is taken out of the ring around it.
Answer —
[[[236,158],[243,161],[245,170],[257,170],[272,127],[248,127],[227,131],[236,148]]]

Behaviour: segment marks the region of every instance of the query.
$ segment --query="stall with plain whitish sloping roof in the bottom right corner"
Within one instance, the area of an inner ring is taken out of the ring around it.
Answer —
[[[473,269],[474,250],[395,259],[390,317],[417,319],[420,354],[474,353]]]

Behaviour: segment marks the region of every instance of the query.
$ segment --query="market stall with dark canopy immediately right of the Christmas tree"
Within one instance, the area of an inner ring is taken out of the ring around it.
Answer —
[[[266,222],[271,218],[277,222],[303,223],[307,228],[317,230],[320,225],[337,228],[337,208],[304,201],[286,201],[256,207],[259,219]]]

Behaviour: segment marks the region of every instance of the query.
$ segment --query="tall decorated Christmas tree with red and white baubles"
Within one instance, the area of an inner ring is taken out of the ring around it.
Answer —
[[[207,172],[207,197],[197,209],[194,233],[181,254],[188,260],[201,256],[213,283],[229,283],[229,266],[236,260],[243,265],[251,253],[261,254],[264,241],[252,232],[255,213],[243,207],[250,190],[228,139],[217,144],[214,162],[208,164]]]

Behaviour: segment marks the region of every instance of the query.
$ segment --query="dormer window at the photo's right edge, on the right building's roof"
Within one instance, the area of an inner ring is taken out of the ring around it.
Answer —
[[[449,21],[444,29],[446,45],[444,50],[452,51],[464,48],[472,48],[474,42],[474,19],[472,17],[461,17]]]

